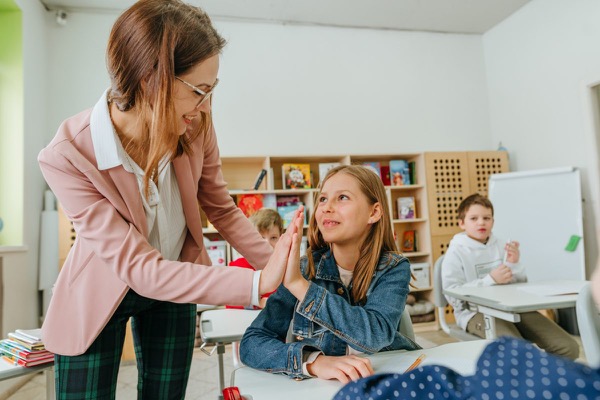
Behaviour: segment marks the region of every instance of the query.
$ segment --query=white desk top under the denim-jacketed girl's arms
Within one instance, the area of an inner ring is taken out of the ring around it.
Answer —
[[[421,365],[443,365],[463,375],[472,375],[479,356],[489,340],[450,343],[431,349],[415,351],[387,351],[366,356],[375,373],[404,372],[415,359],[426,354]],[[232,374],[232,386],[253,400],[307,400],[331,399],[343,384],[334,380],[305,379],[296,381],[284,375],[274,375],[250,367],[241,367]]]

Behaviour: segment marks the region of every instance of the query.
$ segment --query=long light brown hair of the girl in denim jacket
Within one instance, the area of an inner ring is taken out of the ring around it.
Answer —
[[[391,219],[388,207],[385,188],[381,179],[373,171],[360,165],[341,165],[331,169],[322,182],[319,184],[319,190],[315,194],[315,204],[321,196],[321,190],[325,182],[335,174],[347,174],[352,176],[366,196],[369,204],[379,203],[381,206],[381,218],[379,221],[371,224],[370,231],[360,246],[359,257],[354,268],[352,277],[352,296],[356,302],[362,302],[367,297],[367,291],[371,285],[373,272],[379,264],[379,258],[384,252],[398,253],[396,241],[391,228]],[[306,252],[308,256],[308,278],[315,276],[315,264],[311,256],[313,251],[317,251],[329,244],[323,239],[321,231],[317,226],[316,210],[313,212],[308,225],[308,245]]]

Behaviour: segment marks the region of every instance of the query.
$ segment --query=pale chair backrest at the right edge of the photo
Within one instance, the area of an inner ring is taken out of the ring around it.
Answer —
[[[576,312],[585,358],[589,366],[598,368],[600,367],[600,313],[592,297],[589,283],[577,296]]]

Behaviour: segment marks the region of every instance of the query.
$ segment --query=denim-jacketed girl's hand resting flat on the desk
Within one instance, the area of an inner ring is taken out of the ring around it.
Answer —
[[[355,381],[374,374],[371,361],[357,356],[319,355],[315,361],[306,365],[309,374],[321,379],[337,379],[342,383]]]

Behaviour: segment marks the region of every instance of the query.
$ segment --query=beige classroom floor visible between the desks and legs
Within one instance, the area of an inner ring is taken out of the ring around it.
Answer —
[[[579,337],[575,337],[579,339]],[[417,342],[424,348],[440,344],[455,342],[453,338],[443,331],[423,332],[417,334]],[[582,350],[583,354],[583,350]],[[229,376],[233,370],[231,359],[231,346],[227,346],[224,355],[225,384],[229,383]],[[137,369],[133,362],[121,365],[119,383],[117,387],[117,400],[131,400],[137,397],[136,392]],[[200,349],[194,350],[194,359],[190,372],[186,399],[189,400],[214,400],[218,395],[218,368],[217,354],[212,356],[204,354]],[[9,400],[44,400],[46,393],[46,380],[43,374],[35,375],[23,385]]]

